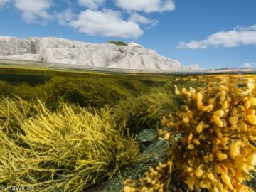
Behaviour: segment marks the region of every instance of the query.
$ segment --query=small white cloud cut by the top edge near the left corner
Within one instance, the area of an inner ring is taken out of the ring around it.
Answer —
[[[53,6],[52,0],[15,0],[14,6],[28,23],[45,23],[51,16],[47,10]]]

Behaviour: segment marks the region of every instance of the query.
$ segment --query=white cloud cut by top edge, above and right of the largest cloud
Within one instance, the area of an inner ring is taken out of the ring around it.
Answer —
[[[151,12],[163,12],[173,11],[175,9],[174,1],[172,0],[114,0],[115,4],[122,9],[128,11],[144,11],[146,13]]]

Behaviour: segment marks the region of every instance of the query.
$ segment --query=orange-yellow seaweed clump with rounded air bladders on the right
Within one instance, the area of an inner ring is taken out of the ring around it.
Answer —
[[[181,178],[188,191],[250,191],[245,180],[256,166],[256,89],[254,81],[209,83],[206,88],[178,90],[186,105],[161,121],[159,134],[171,143],[169,158],[150,167],[140,184],[127,179],[124,192],[169,191]]]

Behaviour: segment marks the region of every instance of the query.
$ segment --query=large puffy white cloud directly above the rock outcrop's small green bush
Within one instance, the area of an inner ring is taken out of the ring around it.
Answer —
[[[119,11],[111,9],[82,11],[78,18],[70,22],[70,26],[94,36],[138,38],[143,33],[137,23],[124,21]]]

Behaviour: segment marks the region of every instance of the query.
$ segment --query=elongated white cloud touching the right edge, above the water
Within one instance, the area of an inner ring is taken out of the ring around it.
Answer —
[[[192,40],[189,42],[180,42],[178,48],[208,48],[210,46],[225,48],[237,46],[256,45],[256,25],[249,27],[237,26],[232,31],[220,31],[214,33],[201,41]]]

